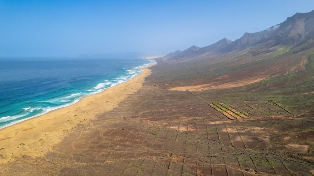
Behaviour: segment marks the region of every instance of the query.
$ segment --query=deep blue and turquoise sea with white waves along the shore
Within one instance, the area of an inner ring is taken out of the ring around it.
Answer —
[[[126,82],[143,71],[139,66],[151,63],[138,58],[0,58],[0,128]]]

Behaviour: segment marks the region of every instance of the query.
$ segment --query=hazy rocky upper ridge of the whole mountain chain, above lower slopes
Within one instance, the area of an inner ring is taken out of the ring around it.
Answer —
[[[213,56],[228,52],[241,52],[246,50],[246,55],[267,54],[282,49],[283,47],[300,46],[314,35],[314,10],[309,13],[296,13],[287,18],[283,23],[272,26],[256,33],[245,33],[234,42],[221,39],[209,46],[199,48],[192,46],[180,54],[163,58],[164,62],[172,62],[183,58],[194,58],[200,55]]]

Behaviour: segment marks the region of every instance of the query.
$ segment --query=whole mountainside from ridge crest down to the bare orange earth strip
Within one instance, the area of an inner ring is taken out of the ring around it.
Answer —
[[[159,58],[156,72],[174,75],[169,84],[161,86],[165,89],[236,87],[306,70],[313,50],[311,11],[296,13],[261,32],[246,33],[234,42],[222,39],[203,48],[192,46],[164,60]]]

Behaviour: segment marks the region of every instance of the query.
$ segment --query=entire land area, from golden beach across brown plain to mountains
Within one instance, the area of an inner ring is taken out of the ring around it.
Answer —
[[[314,10],[155,58],[0,130],[0,175],[313,176]]]

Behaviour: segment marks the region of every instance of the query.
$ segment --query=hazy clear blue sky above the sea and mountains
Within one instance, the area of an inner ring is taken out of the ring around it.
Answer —
[[[0,0],[0,56],[167,54],[313,9],[313,0]]]

